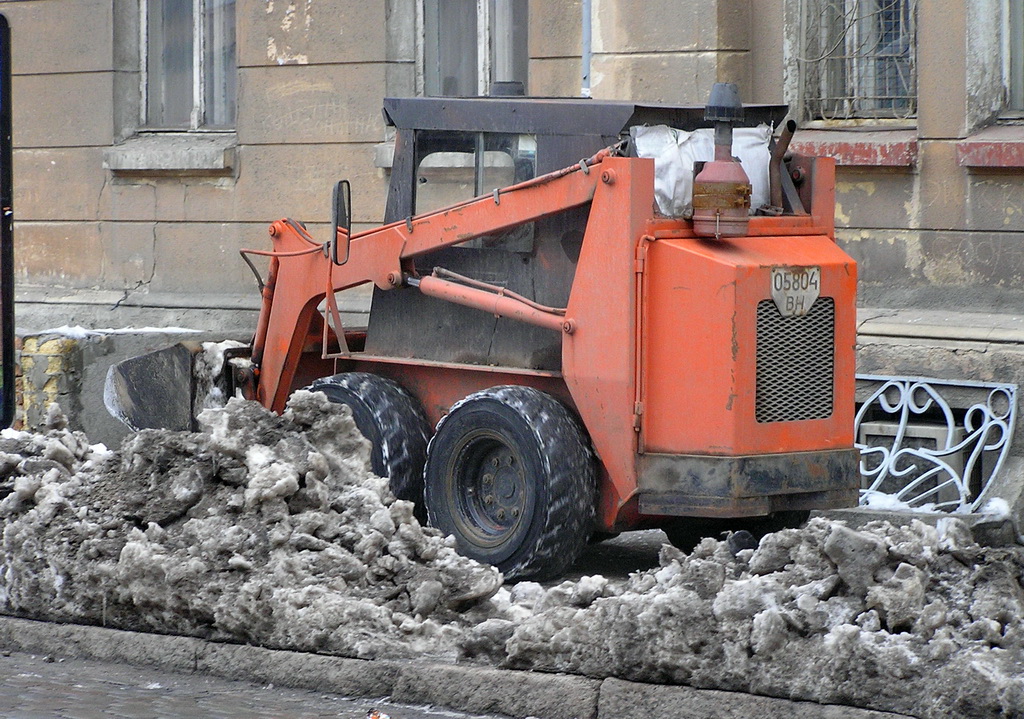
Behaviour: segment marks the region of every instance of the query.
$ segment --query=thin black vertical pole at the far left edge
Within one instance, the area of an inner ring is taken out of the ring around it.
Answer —
[[[14,185],[10,114],[10,25],[0,15],[0,426],[14,421]]]

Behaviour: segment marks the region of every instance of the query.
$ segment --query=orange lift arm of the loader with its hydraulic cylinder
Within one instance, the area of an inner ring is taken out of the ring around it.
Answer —
[[[334,264],[330,259],[332,248],[315,244],[294,222],[273,222],[269,228],[272,252],[243,250],[249,254],[269,254],[271,258],[263,288],[261,324],[253,342],[253,362],[258,373],[256,398],[275,412],[284,410],[304,340],[317,306],[329,294],[333,296],[335,292],[370,282],[382,290],[401,287],[412,270],[408,261],[415,257],[585,205],[593,200],[599,182],[613,181],[613,176],[602,172],[600,166],[604,158],[615,152],[615,147],[608,147],[578,165],[496,189],[490,195],[353,234],[348,239],[348,261],[344,264]],[[336,231],[336,238],[335,242],[345,240],[344,232]],[[289,277],[289,282],[279,289],[278,279],[283,274]],[[433,290],[430,292],[433,296],[473,306],[477,306],[480,294],[489,294],[434,278],[421,290],[425,293]],[[474,294],[476,302],[469,299]],[[513,297],[500,299],[501,302],[488,307],[490,311],[552,329],[562,328],[568,322],[556,314],[545,318],[543,310]],[[571,324],[565,326],[570,331]],[[340,327],[337,332],[341,339]]]

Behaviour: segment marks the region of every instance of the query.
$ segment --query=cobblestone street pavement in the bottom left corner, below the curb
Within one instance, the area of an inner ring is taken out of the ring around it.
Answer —
[[[5,719],[496,719],[105,662],[0,655]]]

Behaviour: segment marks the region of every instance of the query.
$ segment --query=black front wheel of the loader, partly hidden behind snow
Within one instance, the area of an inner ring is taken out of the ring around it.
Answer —
[[[324,377],[308,389],[351,408],[355,426],[373,448],[374,473],[387,477],[395,497],[414,502],[417,516],[425,519],[423,464],[430,425],[419,403],[400,385],[367,372]]]

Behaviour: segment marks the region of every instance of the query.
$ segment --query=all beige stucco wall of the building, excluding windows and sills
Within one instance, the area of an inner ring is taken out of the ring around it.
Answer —
[[[135,129],[137,3],[0,2],[14,33],[19,292],[255,307],[237,251],[266,246],[266,223],[289,215],[323,236],[341,177],[356,221],[380,221],[381,98],[416,91],[415,6],[240,3],[231,167],[167,176],[103,167]],[[746,101],[784,101],[793,6],[593,0],[593,94],[699,104],[713,82],[731,81]],[[864,302],[984,311],[1024,299],[1024,172],[956,157],[1001,102],[998,6],[921,0],[916,161],[840,167],[839,237],[861,261]],[[531,0],[529,10],[531,94],[578,94],[580,0]]]

